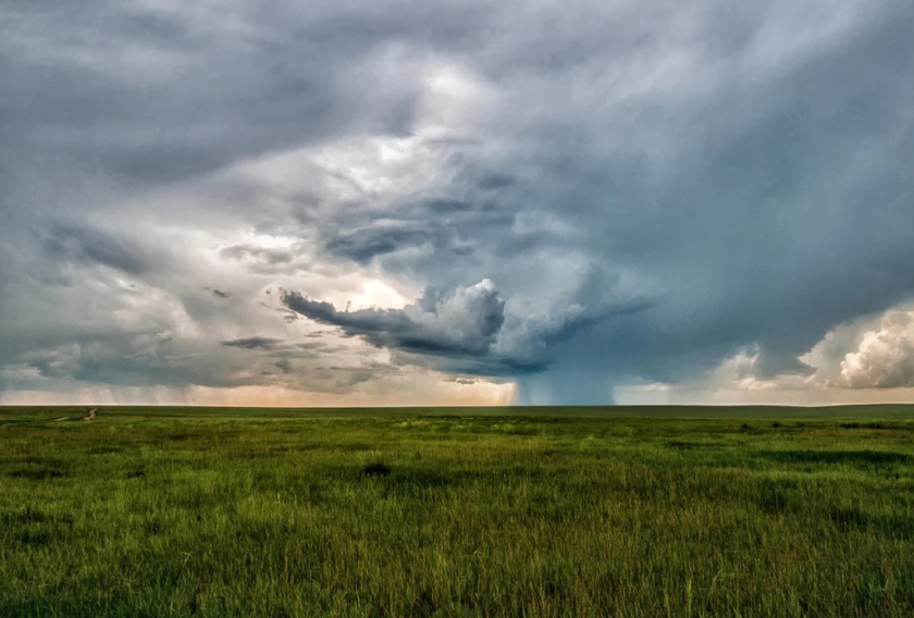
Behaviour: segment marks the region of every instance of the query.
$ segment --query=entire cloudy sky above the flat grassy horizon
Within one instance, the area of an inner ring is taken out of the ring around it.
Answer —
[[[914,401],[910,0],[5,0],[0,404]]]

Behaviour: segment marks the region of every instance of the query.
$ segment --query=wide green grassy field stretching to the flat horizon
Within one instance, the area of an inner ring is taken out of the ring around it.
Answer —
[[[914,407],[86,411],[0,408],[4,618],[914,616]]]

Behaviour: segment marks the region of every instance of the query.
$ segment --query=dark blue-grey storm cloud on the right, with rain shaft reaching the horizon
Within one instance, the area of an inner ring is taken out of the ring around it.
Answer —
[[[639,101],[621,118],[570,109],[563,132],[548,126],[552,119],[526,127],[541,148],[517,152],[506,169],[530,177],[532,166],[539,175],[507,187],[502,208],[523,200],[551,212],[573,230],[571,243],[512,226],[490,240],[480,226],[472,255],[503,263],[474,272],[474,261],[464,260],[455,269],[446,251],[411,262],[391,251],[382,263],[425,281],[459,272],[522,288],[536,277],[524,260],[543,263],[543,251],[558,248],[658,282],[663,300],[651,310],[558,343],[556,364],[567,369],[553,372],[548,386],[558,400],[584,382],[689,379],[752,344],[758,378],[807,374],[796,357],[835,324],[914,293],[914,275],[898,267],[914,258],[905,172],[914,119],[903,104],[914,98],[913,16],[899,3],[874,7],[845,36],[823,41],[822,53],[759,67],[755,82],[740,67],[751,60],[749,46],[730,40],[731,58],[705,57],[719,65],[711,64],[719,73],[706,92]],[[719,24],[705,25],[701,34],[714,42]],[[560,106],[557,89],[546,96]],[[649,150],[655,140],[658,161]]]

